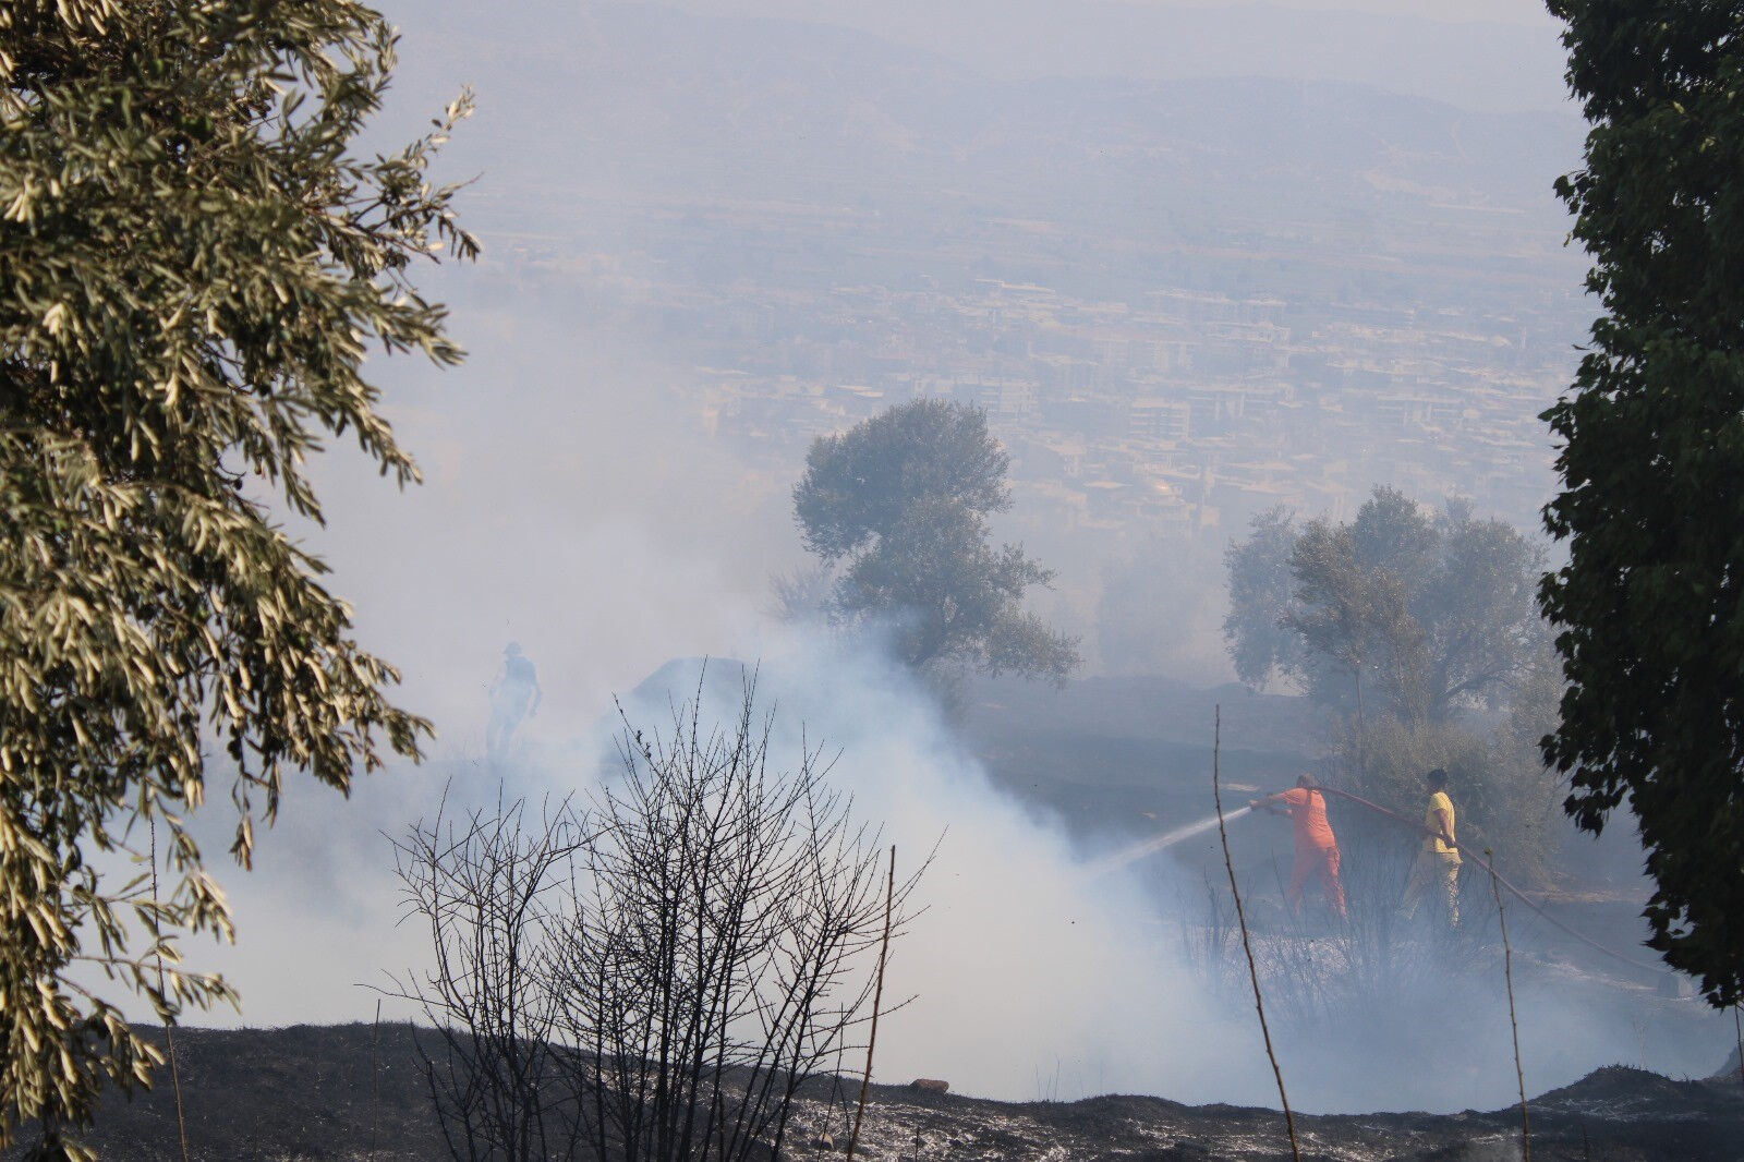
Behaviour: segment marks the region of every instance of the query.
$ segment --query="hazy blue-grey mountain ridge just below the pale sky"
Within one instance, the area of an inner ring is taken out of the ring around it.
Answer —
[[[1571,108],[1470,112],[1247,70],[1001,79],[867,31],[642,3],[419,14],[406,58],[419,99],[436,79],[476,85],[445,164],[483,171],[485,202],[521,206],[570,188],[1181,236],[1285,206],[1355,222],[1468,206],[1554,215],[1559,241],[1549,183],[1584,129]],[[1559,87],[1554,58],[1543,70]]]

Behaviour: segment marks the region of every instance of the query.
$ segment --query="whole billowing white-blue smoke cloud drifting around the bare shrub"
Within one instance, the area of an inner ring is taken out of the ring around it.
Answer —
[[[937,844],[916,897],[928,911],[889,967],[889,991],[914,1001],[881,1028],[879,1080],[944,1077],[1006,1099],[1125,1090],[1275,1103],[1245,965],[1230,961],[1242,975],[1214,986],[1186,951],[1193,930],[1181,919],[1196,919],[1195,909],[1160,907],[1202,899],[1221,865],[1156,855],[1090,876],[1109,850],[1081,850],[1057,820],[1003,792],[903,672],[773,625],[762,614],[769,576],[799,560],[788,483],[745,475],[673,419],[668,389],[682,386],[682,368],[567,325],[562,304],[462,305],[457,332],[473,345],[460,372],[389,365],[384,375],[389,415],[420,454],[426,483],[399,496],[356,457],[333,455],[323,466],[330,525],[305,530],[335,565],[333,590],[356,604],[364,640],[405,668],[401,701],[436,721],[431,762],[361,780],[349,803],[309,780],[288,785],[258,871],[218,869],[237,946],[190,949],[192,967],[221,968],[242,991],[242,1014],[215,1021],[366,1021],[385,974],[424,961],[424,932],[398,923],[384,832],[431,817],[445,792],[459,803],[495,796],[481,755],[485,691],[514,639],[539,666],[544,703],[520,731],[511,794],[584,794],[614,726],[610,694],[626,696],[638,724],[663,724],[670,700],[696,689],[694,665],[661,670],[670,660],[743,658],[760,661],[790,762],[804,726],[841,752],[832,780],[853,792],[860,818],[886,827],[900,867]],[[727,661],[717,668],[734,675]],[[732,708],[712,698],[705,712]],[[201,827],[218,862],[230,820],[221,790],[213,801]],[[1257,841],[1261,825],[1231,829]],[[1243,886],[1275,895],[1268,883]],[[1517,953],[1531,958],[1533,940],[1521,923]],[[1521,984],[1535,1090],[1611,1061],[1706,1071],[1723,1056],[1720,1022],[1690,1001],[1667,1022],[1672,1003],[1646,989],[1594,1007],[1591,991],[1570,988],[1578,984],[1547,974]],[[1334,1022],[1292,1024],[1280,1007],[1273,1028],[1296,1104],[1510,1101],[1500,965],[1489,977],[1427,972],[1411,986],[1420,993],[1380,996]],[[389,998],[384,1015],[413,1014]]]

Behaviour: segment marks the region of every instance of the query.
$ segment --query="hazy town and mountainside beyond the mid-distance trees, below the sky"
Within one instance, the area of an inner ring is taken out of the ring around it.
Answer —
[[[774,518],[820,433],[919,396],[985,408],[1001,532],[1059,571],[1043,609],[1092,672],[1148,668],[1099,647],[1146,604],[1198,609],[1175,646],[1216,665],[1221,550],[1278,504],[1346,518],[1386,483],[1538,527],[1536,415],[1594,314],[1552,194],[1573,108],[992,79],[651,5],[530,52],[445,28],[412,30],[419,75],[485,79],[453,147],[480,171],[469,298],[659,351],[670,440]],[[1155,562],[1174,576],[1134,584]]]

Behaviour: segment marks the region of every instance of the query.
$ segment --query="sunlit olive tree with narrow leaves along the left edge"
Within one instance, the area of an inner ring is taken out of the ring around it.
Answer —
[[[77,967],[164,1019],[234,1000],[174,939],[232,925],[185,829],[206,748],[246,865],[288,769],[344,790],[429,729],[263,499],[319,520],[344,433],[415,480],[364,347],[459,359],[410,263],[476,249],[426,178],[466,103],[347,152],[392,65],[344,0],[0,7],[0,1139],[38,1118],[40,1157],[159,1057]],[[115,883],[141,817],[162,895]]]

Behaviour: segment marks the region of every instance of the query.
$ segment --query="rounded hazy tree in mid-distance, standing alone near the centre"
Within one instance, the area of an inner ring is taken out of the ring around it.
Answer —
[[[820,436],[794,515],[806,548],[841,567],[832,612],[877,625],[914,670],[1064,680],[1074,642],[1018,607],[1053,574],[989,544],[987,516],[1012,506],[1008,466],[978,408],[940,400]]]

